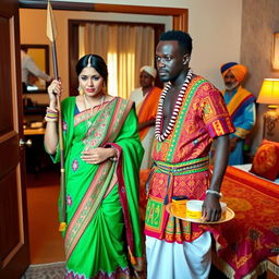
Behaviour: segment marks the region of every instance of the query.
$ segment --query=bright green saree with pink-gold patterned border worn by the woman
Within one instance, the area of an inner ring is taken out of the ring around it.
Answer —
[[[143,148],[136,114],[132,102],[121,98],[74,116],[75,106],[75,97],[62,102],[66,278],[130,278],[131,265],[142,268],[137,201]],[[111,146],[118,161],[81,159],[83,150]]]

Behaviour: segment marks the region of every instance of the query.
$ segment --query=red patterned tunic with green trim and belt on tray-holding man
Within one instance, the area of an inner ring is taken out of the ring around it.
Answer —
[[[199,76],[189,84],[175,125],[163,141],[155,141],[153,177],[145,233],[167,242],[197,239],[203,229],[166,211],[172,198],[204,199],[209,186],[208,154],[213,138],[234,131],[219,90]]]

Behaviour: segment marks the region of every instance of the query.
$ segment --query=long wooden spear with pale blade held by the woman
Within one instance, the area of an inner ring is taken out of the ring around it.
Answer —
[[[52,49],[52,60],[53,60],[53,72],[54,78],[58,81],[58,63],[57,63],[57,25],[52,13],[52,8],[50,1],[48,0],[47,8],[47,37],[51,41]],[[64,169],[64,145],[63,145],[63,133],[62,133],[62,111],[61,111],[61,100],[60,96],[57,95],[57,109],[58,109],[58,133],[59,133],[59,144],[60,144],[60,194],[61,194],[61,222],[59,226],[59,231],[64,231],[66,227],[66,214],[65,214],[65,169]]]

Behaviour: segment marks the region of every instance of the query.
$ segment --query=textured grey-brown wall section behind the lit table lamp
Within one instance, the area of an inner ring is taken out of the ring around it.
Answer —
[[[279,71],[272,71],[270,62],[272,34],[279,32],[279,0],[243,0],[241,32],[241,63],[248,68],[243,85],[257,97],[264,78],[279,78]],[[266,109],[266,105],[257,105],[253,153],[263,137],[263,114]]]

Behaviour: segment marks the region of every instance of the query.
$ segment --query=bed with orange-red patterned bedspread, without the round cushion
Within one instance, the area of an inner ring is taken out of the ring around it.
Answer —
[[[222,201],[233,220],[207,227],[215,236],[214,265],[228,278],[254,278],[267,270],[267,258],[279,254],[279,180],[248,172],[251,165],[228,167]]]

